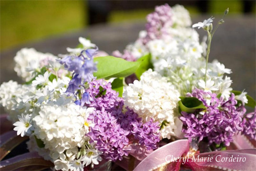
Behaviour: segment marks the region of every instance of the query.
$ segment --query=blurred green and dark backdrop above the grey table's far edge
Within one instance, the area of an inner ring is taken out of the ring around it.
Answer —
[[[184,5],[192,17],[216,15],[229,7],[229,15],[255,15],[255,1],[0,1],[1,47],[6,50],[31,41],[65,34],[106,22],[145,20],[155,5]]]

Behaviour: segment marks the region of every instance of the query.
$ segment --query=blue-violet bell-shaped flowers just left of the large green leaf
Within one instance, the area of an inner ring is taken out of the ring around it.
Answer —
[[[97,71],[93,56],[98,51],[96,49],[87,49],[78,56],[66,56],[60,60],[66,70],[73,72],[72,80],[68,84],[67,93],[75,94],[83,83],[94,79],[93,72]]]

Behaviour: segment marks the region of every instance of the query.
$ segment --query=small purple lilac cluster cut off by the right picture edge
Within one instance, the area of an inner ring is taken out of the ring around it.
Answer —
[[[243,117],[242,126],[243,135],[249,136],[251,139],[256,138],[256,108],[254,112],[248,113]]]

